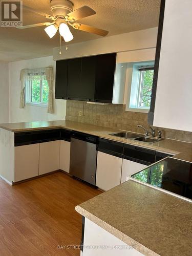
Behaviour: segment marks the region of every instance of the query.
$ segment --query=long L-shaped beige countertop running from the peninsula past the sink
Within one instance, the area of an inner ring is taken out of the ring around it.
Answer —
[[[46,129],[65,128],[78,132],[88,133],[105,139],[111,139],[126,144],[138,145],[152,150],[157,150],[165,153],[176,155],[178,159],[192,162],[192,143],[182,142],[177,140],[162,139],[153,144],[146,144],[139,141],[115,137],[111,133],[119,132],[119,130],[110,129],[87,123],[72,122],[68,120],[61,121],[39,121],[39,122],[23,122],[23,123],[4,123],[0,124],[0,128],[11,132],[25,132]]]

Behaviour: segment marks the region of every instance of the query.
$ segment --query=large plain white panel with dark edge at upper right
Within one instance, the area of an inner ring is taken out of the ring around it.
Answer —
[[[165,2],[154,125],[192,132],[192,1]]]

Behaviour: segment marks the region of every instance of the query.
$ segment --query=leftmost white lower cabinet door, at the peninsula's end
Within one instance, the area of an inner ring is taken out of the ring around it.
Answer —
[[[15,147],[14,182],[29,179],[39,174],[39,144]]]

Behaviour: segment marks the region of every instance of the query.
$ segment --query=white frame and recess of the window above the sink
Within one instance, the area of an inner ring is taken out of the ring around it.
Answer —
[[[126,97],[126,108],[125,111],[132,111],[132,112],[140,112],[140,113],[148,113],[150,111],[150,107],[146,108],[145,106],[140,106],[141,101],[141,92],[143,88],[143,81],[144,81],[144,71],[139,71],[138,68],[140,66],[153,66],[154,61],[145,61],[145,62],[136,62],[132,63],[131,67],[129,68],[128,74],[128,89],[127,89],[127,97]],[[134,87],[134,89],[132,89]],[[134,93],[132,92],[135,91]],[[134,94],[134,97],[133,97]],[[134,103],[132,104],[131,101]],[[134,106],[130,106],[130,105]]]

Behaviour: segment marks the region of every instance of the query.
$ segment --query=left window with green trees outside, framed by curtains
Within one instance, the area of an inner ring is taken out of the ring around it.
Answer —
[[[47,106],[49,95],[47,80],[30,80],[26,83],[26,102]]]

